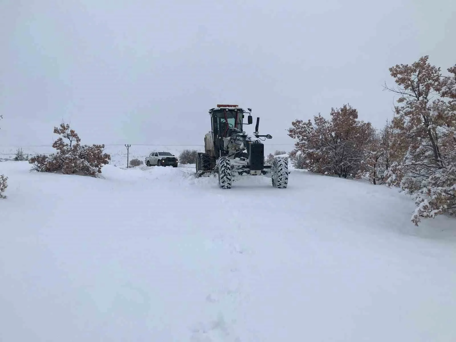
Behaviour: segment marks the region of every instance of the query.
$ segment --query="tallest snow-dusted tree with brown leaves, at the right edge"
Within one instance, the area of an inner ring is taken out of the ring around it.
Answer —
[[[393,120],[394,149],[406,150],[385,172],[390,185],[415,197],[411,221],[456,213],[456,66],[442,78],[428,56],[389,68],[400,95]]]

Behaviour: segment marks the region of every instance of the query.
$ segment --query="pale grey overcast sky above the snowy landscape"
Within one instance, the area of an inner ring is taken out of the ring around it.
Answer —
[[[346,103],[380,128],[388,68],[446,72],[455,21],[454,0],[0,0],[0,145],[50,145],[62,119],[87,144],[202,144],[220,103],[270,144]]]

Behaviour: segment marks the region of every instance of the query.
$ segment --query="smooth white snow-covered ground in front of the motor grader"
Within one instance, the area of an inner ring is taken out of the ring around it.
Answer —
[[[456,221],[293,170],[0,162],[0,341],[455,341]]]

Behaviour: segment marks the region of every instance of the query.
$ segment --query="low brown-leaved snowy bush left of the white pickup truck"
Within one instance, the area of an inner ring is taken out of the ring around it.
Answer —
[[[32,170],[39,172],[62,172],[63,174],[83,173],[97,176],[101,168],[109,163],[111,156],[103,153],[104,145],[81,145],[78,134],[70,129],[69,124],[62,123],[54,127],[54,133],[61,135],[52,147],[57,153],[52,155],[36,155],[30,158]]]

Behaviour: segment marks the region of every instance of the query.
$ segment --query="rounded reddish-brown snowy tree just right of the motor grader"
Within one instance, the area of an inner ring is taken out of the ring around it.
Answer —
[[[345,104],[331,109],[331,120],[318,114],[314,124],[309,119],[295,120],[288,135],[297,139],[294,153],[301,152],[303,168],[312,172],[347,178],[359,170],[363,151],[375,130],[358,120],[357,109]]]

